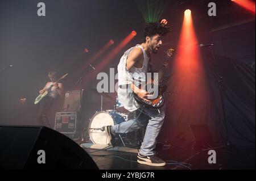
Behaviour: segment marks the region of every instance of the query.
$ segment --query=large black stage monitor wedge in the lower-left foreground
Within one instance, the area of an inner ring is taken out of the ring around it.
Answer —
[[[98,170],[76,142],[47,127],[0,126],[0,148],[0,169]]]

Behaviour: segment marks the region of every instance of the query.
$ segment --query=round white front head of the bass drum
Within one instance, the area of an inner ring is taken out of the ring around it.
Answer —
[[[97,112],[90,119],[89,128],[102,128],[107,125],[114,125],[112,116],[107,111]],[[109,140],[106,137],[106,132],[100,130],[89,129],[90,140],[94,144],[108,145]]]

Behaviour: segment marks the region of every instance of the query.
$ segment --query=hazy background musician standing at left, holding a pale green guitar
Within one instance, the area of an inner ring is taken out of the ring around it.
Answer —
[[[47,94],[45,98],[43,98],[39,102],[39,109],[38,109],[38,123],[39,125],[43,125],[46,127],[51,128],[51,124],[49,123],[47,119],[47,112],[49,108],[51,107],[53,101],[57,98],[57,96],[64,96],[64,90],[63,90],[63,85],[62,83],[56,83],[57,81],[57,72],[56,71],[50,71],[48,73],[48,77],[51,80],[51,82],[47,82],[46,86],[42,90],[39,91],[40,94],[43,94],[47,88],[51,85],[53,87]]]

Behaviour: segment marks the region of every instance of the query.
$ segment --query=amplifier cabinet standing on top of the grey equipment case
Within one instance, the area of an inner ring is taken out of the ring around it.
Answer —
[[[71,112],[71,111],[80,111],[80,103],[82,96],[80,90],[67,91],[65,94],[65,100],[63,105],[63,111]]]

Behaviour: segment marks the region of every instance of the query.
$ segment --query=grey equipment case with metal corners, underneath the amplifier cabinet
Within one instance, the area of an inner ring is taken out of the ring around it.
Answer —
[[[85,113],[56,112],[54,128],[70,138],[78,138],[85,129]]]

